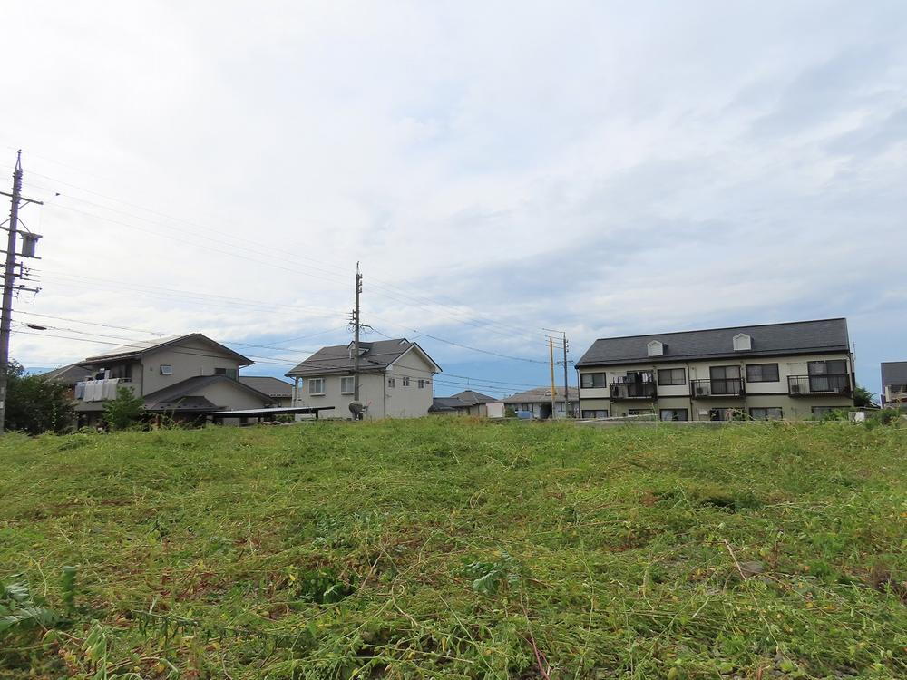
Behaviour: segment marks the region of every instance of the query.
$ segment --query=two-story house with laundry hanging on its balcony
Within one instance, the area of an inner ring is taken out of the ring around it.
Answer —
[[[137,341],[79,362],[91,375],[75,384],[75,412],[80,425],[98,423],[120,387],[141,396],[146,411],[182,421],[273,406],[268,394],[239,382],[239,368],[253,363],[200,333]]]

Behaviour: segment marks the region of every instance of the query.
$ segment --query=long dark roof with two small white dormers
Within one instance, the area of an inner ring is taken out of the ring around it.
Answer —
[[[752,349],[735,351],[737,334],[752,338]],[[649,356],[648,345],[658,340],[664,355]],[[805,353],[848,352],[847,319],[794,321],[786,324],[738,325],[702,331],[681,331],[654,335],[601,338],[576,363],[583,366],[608,364],[654,364],[688,359],[728,356],[799,355]]]

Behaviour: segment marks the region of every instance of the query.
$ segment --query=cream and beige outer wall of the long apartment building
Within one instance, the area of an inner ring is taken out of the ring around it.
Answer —
[[[791,397],[788,393],[787,377],[789,375],[806,375],[807,364],[811,361],[834,361],[843,359],[847,362],[848,373],[853,372],[850,356],[846,353],[827,355],[796,355],[796,356],[748,356],[729,357],[727,359],[711,359],[708,361],[676,362],[652,364],[625,364],[602,368],[580,369],[580,408],[584,411],[606,409],[611,417],[628,415],[630,410],[639,411],[653,409],[658,413],[661,409],[687,409],[688,418],[692,421],[708,420],[711,409],[740,409],[749,413],[750,408],[781,408],[785,418],[803,419],[813,415],[814,406],[828,406],[832,408],[853,407],[853,399],[843,396],[809,395]],[[746,366],[749,364],[778,364],[778,380],[766,383],[751,383],[746,380]],[[746,384],[746,397],[711,397],[706,399],[690,399],[690,381],[707,380],[710,377],[712,366],[736,365],[740,368],[740,375]],[[610,399],[610,388],[583,388],[582,374],[605,373],[606,383],[616,382],[620,376],[629,371],[650,370],[658,381],[658,369],[683,368],[687,376],[685,384],[662,385],[658,384],[658,399]],[[853,387],[853,385],[852,385]]]

